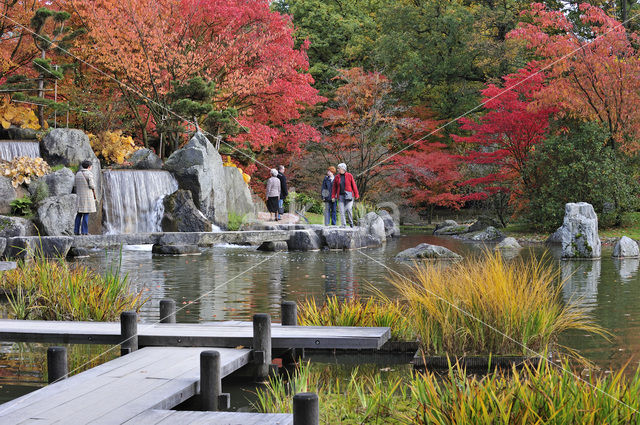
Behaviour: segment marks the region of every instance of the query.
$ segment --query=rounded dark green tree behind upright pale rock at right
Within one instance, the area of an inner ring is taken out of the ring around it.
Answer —
[[[534,182],[524,218],[537,229],[562,224],[564,204],[589,202],[603,226],[619,224],[638,205],[640,187],[628,157],[607,146],[609,134],[595,123],[561,123],[536,149],[526,173]]]

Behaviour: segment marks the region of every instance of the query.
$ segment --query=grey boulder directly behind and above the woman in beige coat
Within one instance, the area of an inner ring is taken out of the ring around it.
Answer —
[[[51,130],[40,142],[40,154],[49,165],[80,166],[82,161],[93,164],[91,171],[96,181],[96,196],[102,199],[102,178],[100,161],[93,153],[89,137],[81,130],[56,128]]]

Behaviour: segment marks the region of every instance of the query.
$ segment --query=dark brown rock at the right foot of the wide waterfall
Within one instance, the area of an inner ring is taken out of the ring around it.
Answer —
[[[188,190],[165,196],[162,230],[164,232],[210,232],[211,222],[198,210]]]

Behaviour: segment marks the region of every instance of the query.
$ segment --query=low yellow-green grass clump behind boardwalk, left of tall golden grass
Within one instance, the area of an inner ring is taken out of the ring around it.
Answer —
[[[413,340],[416,332],[405,305],[381,294],[376,298],[328,297],[322,304],[306,299],[298,305],[300,326],[370,326],[391,328],[391,339]]]

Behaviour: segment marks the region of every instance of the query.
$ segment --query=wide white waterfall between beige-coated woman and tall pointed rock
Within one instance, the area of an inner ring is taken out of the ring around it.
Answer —
[[[102,181],[106,234],[162,231],[162,200],[178,190],[178,182],[169,172],[106,170]]]

